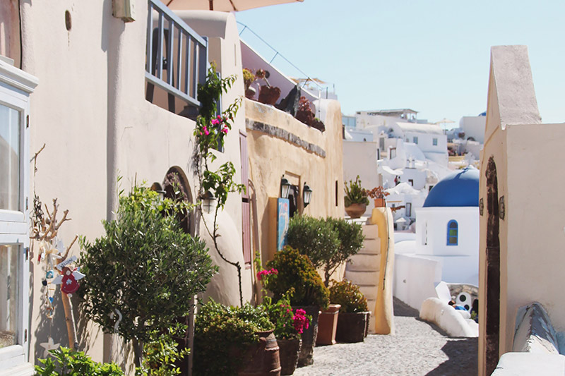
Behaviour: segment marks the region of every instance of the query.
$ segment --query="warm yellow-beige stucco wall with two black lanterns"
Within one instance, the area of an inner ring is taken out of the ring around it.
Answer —
[[[260,131],[247,130],[249,149],[249,176],[256,188],[258,208],[258,236],[263,262],[274,255],[274,243],[269,229],[275,226],[276,212],[269,209],[269,198],[280,197],[280,178],[285,177],[299,186],[302,198],[304,183],[313,190],[311,203],[305,209],[299,203],[299,211],[312,217],[343,217],[343,166],[342,126],[340,105],[327,101],[324,123],[326,131],[321,133],[295,118],[273,107],[245,99],[246,117],[270,126],[282,128],[311,144],[321,147],[326,157],[294,145],[286,140]],[[338,182],[336,205],[335,182]],[[343,273],[343,271],[341,271]]]

